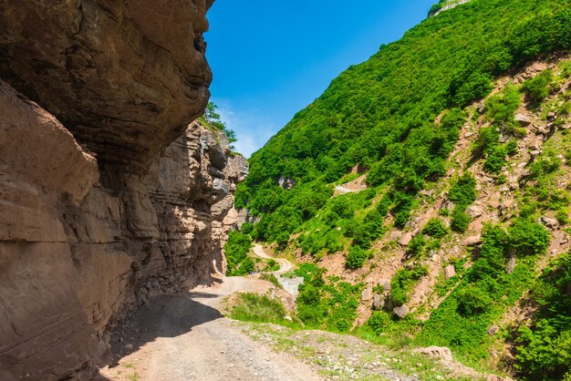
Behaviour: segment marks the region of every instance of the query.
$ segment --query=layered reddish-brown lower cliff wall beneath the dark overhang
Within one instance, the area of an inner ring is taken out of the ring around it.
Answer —
[[[56,118],[4,83],[0,108],[9,112],[0,120],[0,379],[86,376],[126,312],[224,271],[247,162],[221,132],[192,123],[118,193],[97,182],[96,160]]]

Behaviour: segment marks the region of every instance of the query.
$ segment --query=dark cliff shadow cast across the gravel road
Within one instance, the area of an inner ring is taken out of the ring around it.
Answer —
[[[192,328],[220,319],[223,314],[196,299],[216,298],[215,293],[182,293],[160,295],[148,305],[130,315],[125,324],[111,336],[111,354],[99,367],[117,366],[120,360],[137,352],[141,346],[159,337],[176,337],[192,331]],[[99,376],[97,380],[108,380]]]

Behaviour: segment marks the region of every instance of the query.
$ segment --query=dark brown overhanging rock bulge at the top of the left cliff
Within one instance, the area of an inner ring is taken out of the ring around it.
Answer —
[[[56,116],[99,166],[140,174],[206,106],[212,3],[3,0],[0,77]]]

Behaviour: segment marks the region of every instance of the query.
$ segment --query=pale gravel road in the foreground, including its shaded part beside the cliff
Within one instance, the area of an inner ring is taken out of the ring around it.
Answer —
[[[101,370],[103,380],[317,380],[309,366],[276,354],[244,335],[220,313],[223,298],[256,291],[265,283],[225,278],[212,288],[161,296],[132,319],[129,348],[119,365]],[[127,344],[125,344],[127,343]],[[132,346],[132,349],[131,349]]]

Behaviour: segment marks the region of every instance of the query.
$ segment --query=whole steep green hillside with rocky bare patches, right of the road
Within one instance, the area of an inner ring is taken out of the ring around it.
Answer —
[[[566,375],[569,5],[431,17],[254,154],[243,229],[306,262],[306,326]]]

